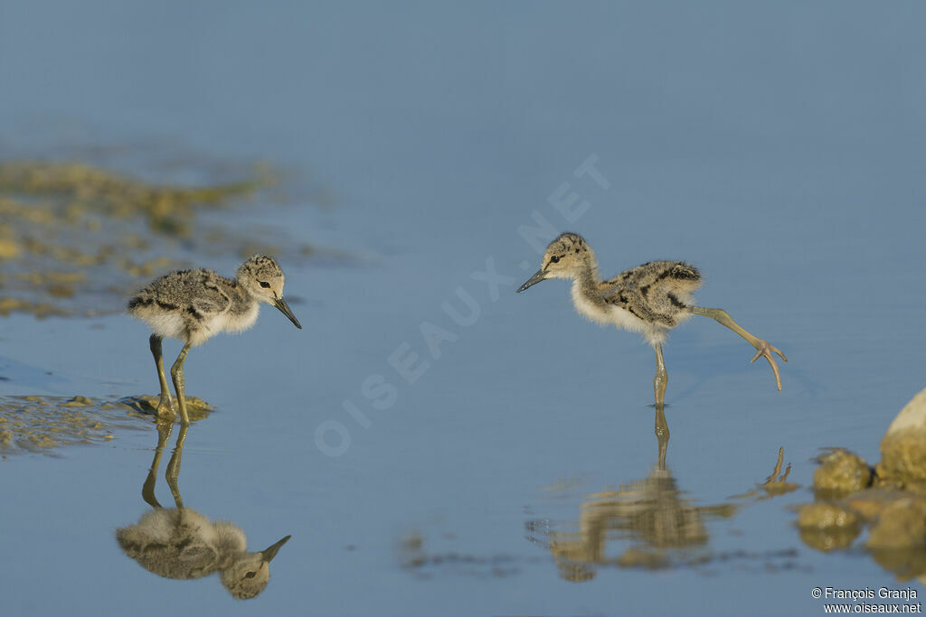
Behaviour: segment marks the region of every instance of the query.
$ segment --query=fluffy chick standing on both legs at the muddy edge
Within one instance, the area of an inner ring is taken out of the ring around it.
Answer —
[[[161,387],[156,413],[175,417],[170,405],[168,381],[161,358],[161,339],[181,339],[183,349],[170,367],[177,392],[181,421],[190,423],[184,398],[183,361],[194,345],[206,342],[222,331],[241,332],[254,326],[260,302],[272,304],[302,329],[289,304],[283,300],[283,271],[272,257],[254,255],[235,278],[225,278],[212,270],[178,270],[157,278],[129,301],[129,314],[146,322],[154,333],[149,340],[155,356],[157,379]]]

